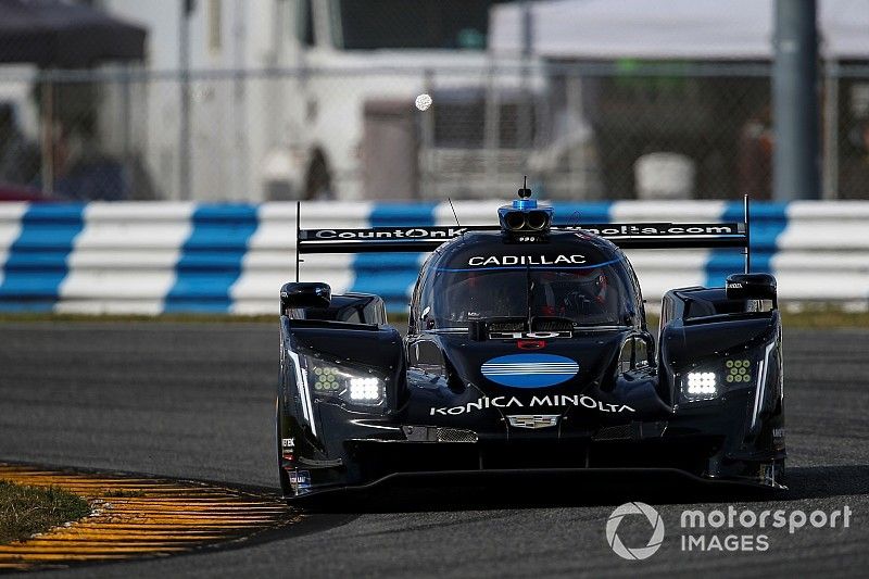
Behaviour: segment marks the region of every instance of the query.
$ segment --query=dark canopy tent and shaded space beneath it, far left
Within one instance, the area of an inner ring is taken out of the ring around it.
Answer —
[[[113,130],[96,77],[140,63],[147,30],[89,4],[0,3],[0,184],[86,200],[127,199],[137,185],[141,158],[119,146],[127,125]]]

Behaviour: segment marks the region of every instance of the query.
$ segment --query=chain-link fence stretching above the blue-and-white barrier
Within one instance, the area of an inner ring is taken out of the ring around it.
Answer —
[[[80,200],[768,199],[766,63],[0,73],[0,188]],[[822,68],[823,196],[869,198],[869,65]],[[417,99],[419,95],[428,95]],[[416,102],[416,106],[415,106]],[[430,102],[430,104],[429,104]]]

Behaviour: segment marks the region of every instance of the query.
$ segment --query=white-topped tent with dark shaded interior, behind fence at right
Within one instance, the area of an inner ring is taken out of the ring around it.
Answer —
[[[552,109],[591,125],[606,198],[666,197],[657,185],[667,180],[678,198],[769,198],[773,9],[774,0],[533,3],[532,52]],[[521,53],[528,20],[520,3],[495,7],[492,53]],[[865,199],[869,0],[819,0],[818,30],[824,194]]]

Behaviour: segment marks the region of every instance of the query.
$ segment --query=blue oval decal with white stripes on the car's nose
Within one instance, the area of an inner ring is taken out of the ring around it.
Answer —
[[[511,388],[545,388],[566,382],[579,373],[579,364],[552,354],[512,354],[493,357],[480,368],[482,375]]]

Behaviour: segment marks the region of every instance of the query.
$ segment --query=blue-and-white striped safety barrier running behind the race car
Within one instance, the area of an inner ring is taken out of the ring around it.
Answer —
[[[462,225],[495,223],[503,201],[455,203]],[[557,203],[556,223],[741,221],[741,202]],[[305,228],[450,225],[446,203],[307,203]],[[0,204],[0,311],[277,313],[294,275],[295,204]],[[754,270],[782,300],[869,299],[869,203],[754,203]],[[720,286],[738,250],[630,251],[645,298]],[[303,280],[406,307],[423,254],[311,255]]]

